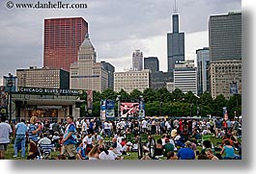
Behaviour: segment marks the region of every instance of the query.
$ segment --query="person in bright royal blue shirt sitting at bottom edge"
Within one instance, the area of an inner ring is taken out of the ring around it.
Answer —
[[[190,141],[186,141],[185,142],[185,147],[184,148],[181,148],[179,151],[178,151],[178,154],[177,154],[177,157],[180,159],[180,160],[195,160],[195,154],[194,154],[194,151],[192,150],[191,148],[191,142]]]

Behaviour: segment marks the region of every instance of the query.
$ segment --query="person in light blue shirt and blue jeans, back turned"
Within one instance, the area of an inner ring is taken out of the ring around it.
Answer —
[[[17,157],[18,148],[21,147],[21,158],[25,157],[26,153],[26,134],[28,132],[25,119],[22,118],[19,123],[16,124],[14,129],[14,158]]]

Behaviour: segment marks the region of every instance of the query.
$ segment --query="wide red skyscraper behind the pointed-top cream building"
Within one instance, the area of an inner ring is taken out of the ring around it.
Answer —
[[[88,23],[82,17],[44,19],[43,66],[70,71],[87,33]]]

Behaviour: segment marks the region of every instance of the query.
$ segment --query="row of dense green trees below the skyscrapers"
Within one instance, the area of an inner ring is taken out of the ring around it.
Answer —
[[[209,92],[204,92],[201,96],[194,95],[191,91],[184,93],[181,89],[176,88],[169,92],[166,87],[159,89],[146,88],[143,92],[133,89],[130,93],[121,89],[115,92],[111,88],[103,92],[94,91],[93,93],[93,112],[88,113],[86,103],[81,105],[81,116],[100,116],[100,100],[109,99],[116,101],[117,95],[121,95],[121,102],[140,102],[140,96],[143,96],[145,102],[145,115],[148,116],[223,116],[223,107],[227,108],[229,117],[242,115],[242,95],[231,95],[226,99],[220,94],[213,99]],[[87,99],[86,92],[81,99]],[[115,102],[115,112],[117,115],[118,107]]]

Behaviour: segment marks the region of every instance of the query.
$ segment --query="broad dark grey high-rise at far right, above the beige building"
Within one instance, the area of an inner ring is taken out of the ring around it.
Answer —
[[[242,60],[242,12],[211,15],[210,61]]]

